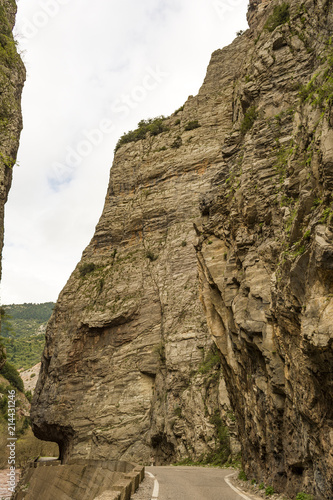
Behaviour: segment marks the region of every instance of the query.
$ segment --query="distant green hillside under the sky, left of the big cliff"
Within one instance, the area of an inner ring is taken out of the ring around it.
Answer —
[[[1,336],[6,345],[7,359],[17,369],[27,370],[39,363],[46,324],[53,307],[53,302],[3,306]]]

